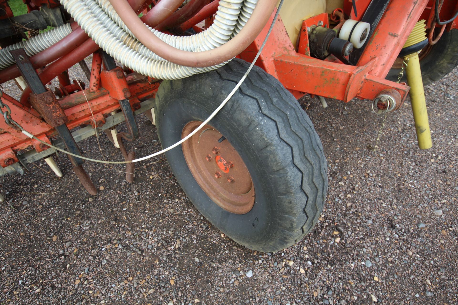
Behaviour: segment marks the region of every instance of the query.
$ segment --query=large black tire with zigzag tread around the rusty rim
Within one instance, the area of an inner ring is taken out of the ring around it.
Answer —
[[[245,61],[234,59],[216,71],[163,81],[155,108],[162,146],[179,141],[186,123],[204,121],[247,68]],[[210,124],[245,162],[255,203],[241,215],[220,208],[197,184],[178,146],[165,155],[191,202],[224,234],[250,249],[279,251],[300,241],[321,214],[327,165],[321,141],[294,96],[255,66]]]

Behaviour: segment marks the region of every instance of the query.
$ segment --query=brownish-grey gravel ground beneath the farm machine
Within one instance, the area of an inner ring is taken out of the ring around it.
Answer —
[[[1,178],[0,304],[457,304],[458,70],[425,88],[434,147],[416,145],[409,102],[382,118],[370,102],[300,100],[329,165],[313,231],[277,253],[231,241],[197,212],[163,157],[136,168],[89,163],[87,194],[64,155]],[[447,86],[451,84],[450,86]],[[8,85],[6,86],[8,89]],[[140,116],[137,156],[159,149]],[[122,156],[104,134],[111,160]],[[96,139],[81,143],[101,158]]]

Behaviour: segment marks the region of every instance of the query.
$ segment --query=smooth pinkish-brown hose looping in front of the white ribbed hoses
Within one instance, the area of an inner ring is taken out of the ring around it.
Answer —
[[[277,3],[277,0],[259,0],[245,27],[229,42],[209,51],[188,52],[174,48],[154,35],[125,0],[109,1],[129,30],[148,49],[165,60],[188,67],[213,66],[240,54],[261,32]]]

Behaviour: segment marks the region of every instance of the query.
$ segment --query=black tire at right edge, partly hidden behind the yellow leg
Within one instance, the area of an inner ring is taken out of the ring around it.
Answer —
[[[427,86],[442,79],[458,65],[458,29],[444,32],[439,41],[430,47],[428,54],[420,60],[423,85]],[[387,80],[398,80],[400,69],[391,69]],[[404,76],[401,81],[407,82]]]

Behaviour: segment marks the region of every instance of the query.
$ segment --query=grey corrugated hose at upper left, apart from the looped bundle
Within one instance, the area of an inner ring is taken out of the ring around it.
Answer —
[[[28,40],[23,40],[6,48],[0,49],[0,70],[8,68],[12,64],[16,63],[13,56],[10,54],[10,51],[18,48],[24,48],[28,56],[33,56],[44,49],[49,48],[70,33],[71,25],[70,23],[67,23],[63,26],[55,27],[52,30],[34,36]]]

